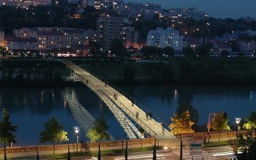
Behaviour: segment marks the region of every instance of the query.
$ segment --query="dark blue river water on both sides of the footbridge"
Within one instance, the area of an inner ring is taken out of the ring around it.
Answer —
[[[250,112],[256,111],[254,86],[120,87],[168,123],[182,102],[190,103],[198,110],[199,125],[206,124],[208,114],[212,112],[227,112],[230,122],[234,123],[235,117],[244,119]],[[103,115],[114,138],[126,138],[114,115],[96,94],[86,86],[75,86],[74,90],[78,101],[94,118]],[[39,142],[39,133],[43,130],[43,123],[52,117],[58,118],[68,132],[70,142],[75,142],[73,126],[78,126],[78,123],[66,103],[65,88],[1,89],[0,107],[1,110],[5,107],[10,121],[18,125],[15,146],[44,144]],[[79,136],[80,139],[84,137],[83,134]]]

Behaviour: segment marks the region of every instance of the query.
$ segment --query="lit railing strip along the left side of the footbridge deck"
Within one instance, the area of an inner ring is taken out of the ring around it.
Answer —
[[[98,87],[100,87],[100,86],[96,86],[96,85],[94,85],[94,83],[92,83],[92,82],[90,82],[90,81],[86,81],[86,79],[84,79],[84,78],[82,78],[82,77],[79,77],[79,78],[81,78],[81,81],[83,82],[83,83],[88,83],[88,84],[90,84],[91,86],[93,86],[94,88],[98,88]],[[101,87],[101,89],[102,90],[105,90],[108,94],[105,94],[108,98],[110,98],[110,100],[113,100],[114,99],[114,96],[112,95],[112,94],[110,94],[109,93],[109,91],[108,90],[106,90],[106,89],[104,89],[104,88],[102,88]],[[100,91],[100,90],[98,90],[98,91]],[[102,93],[102,94],[104,94],[104,93]],[[110,96],[109,96],[110,95]],[[116,100],[115,101],[115,103],[117,102],[118,100]],[[133,118],[133,119],[135,119],[136,118],[136,115],[133,113],[133,112],[131,112],[125,105],[123,105],[122,104],[122,102],[120,102],[120,101],[118,101],[119,102],[119,106],[122,106],[122,109],[125,109],[124,111],[130,116],[130,118]],[[116,103],[117,104],[117,103]],[[144,122],[142,122],[142,120],[141,119],[139,119],[139,118],[136,118],[137,119],[137,124],[139,125],[139,126],[141,126],[142,128],[144,128],[146,131],[147,131],[147,133],[148,134],[154,134],[154,136],[156,136],[156,135],[158,135],[158,134],[156,134],[155,132],[154,132],[154,130],[152,130],[151,128],[150,128],[150,126],[147,126]],[[152,136],[152,137],[154,137],[154,136]]]

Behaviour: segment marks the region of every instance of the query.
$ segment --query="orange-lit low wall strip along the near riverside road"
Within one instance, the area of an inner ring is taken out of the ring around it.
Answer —
[[[226,137],[226,138],[222,137],[221,141],[233,140],[233,139],[234,139],[234,137]],[[193,141],[194,141],[193,137],[182,137],[183,149],[189,149],[190,142],[193,142]],[[198,139],[196,139],[196,141],[198,141]],[[206,142],[207,142],[207,140],[206,140]],[[210,142],[218,142],[218,137],[213,136],[212,138],[210,138]],[[98,152],[97,144],[98,143],[92,143],[92,145],[90,146],[90,151]],[[154,139],[153,138],[143,139],[142,142],[140,139],[130,140],[128,144],[129,144],[128,145],[129,149],[154,146]],[[157,141],[156,144],[157,144],[157,146],[166,146],[170,150],[179,150],[180,149],[180,138]],[[40,148],[40,150],[38,150],[40,159],[43,159],[43,158],[41,158],[42,155],[53,154],[54,151],[53,151],[52,147],[53,146],[38,146],[38,148]],[[124,150],[125,150],[125,147],[126,147],[126,141],[123,142]],[[19,147],[16,147],[16,148],[19,148]],[[7,153],[7,158],[36,159],[36,154],[37,154],[36,146],[24,146],[23,148],[30,149],[30,150],[9,152],[9,153]],[[8,149],[11,149],[11,148],[8,148]],[[76,143],[70,144],[70,152],[75,153],[76,149],[77,149]],[[122,141],[102,142],[101,150],[122,150]],[[12,151],[14,151],[14,150],[12,150]],[[55,146],[55,154],[67,154],[67,151],[68,150],[67,150],[66,144]],[[79,151],[80,151],[80,144],[78,144],[78,152]],[[2,154],[2,157],[3,157],[3,154]],[[0,154],[0,158],[1,158],[1,154]]]

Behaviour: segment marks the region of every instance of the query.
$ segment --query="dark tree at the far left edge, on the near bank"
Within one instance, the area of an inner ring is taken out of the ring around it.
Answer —
[[[2,122],[0,122],[0,140],[4,147],[4,159],[6,159],[6,144],[15,143],[15,132],[18,126],[14,126],[9,121],[10,116],[8,115],[5,108],[2,109]]]

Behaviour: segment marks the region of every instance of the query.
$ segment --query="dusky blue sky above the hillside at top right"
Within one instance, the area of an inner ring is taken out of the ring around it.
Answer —
[[[124,2],[152,2],[167,7],[198,7],[214,18],[256,18],[256,0],[124,0]]]

